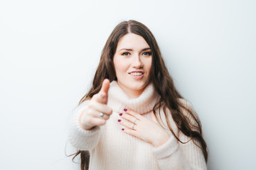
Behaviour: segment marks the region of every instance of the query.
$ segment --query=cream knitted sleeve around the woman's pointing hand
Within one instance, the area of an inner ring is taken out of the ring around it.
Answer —
[[[79,150],[90,150],[97,146],[100,139],[100,127],[95,126],[91,130],[84,130],[80,126],[80,115],[87,108],[89,101],[84,101],[73,110],[70,118],[68,138],[70,144]]]

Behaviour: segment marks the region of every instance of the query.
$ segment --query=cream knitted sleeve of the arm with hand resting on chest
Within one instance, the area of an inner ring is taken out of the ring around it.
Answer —
[[[181,132],[179,139],[182,142],[187,142],[191,138],[183,135]],[[198,142],[196,144],[199,145]],[[164,145],[161,145],[160,147],[153,147],[152,152],[156,157],[161,170],[207,169],[202,150],[196,146],[192,140],[182,144],[176,140],[174,135],[171,134],[170,139],[164,143]]]

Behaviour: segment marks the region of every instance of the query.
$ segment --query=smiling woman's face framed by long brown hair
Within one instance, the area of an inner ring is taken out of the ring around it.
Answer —
[[[124,35],[117,44],[113,60],[117,84],[127,96],[140,96],[149,82],[152,63],[146,40],[134,33]]]

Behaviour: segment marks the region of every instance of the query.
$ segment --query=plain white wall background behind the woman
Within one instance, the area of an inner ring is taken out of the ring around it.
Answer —
[[[255,169],[256,2],[1,1],[0,169],[75,169],[68,118],[114,26],[154,33],[208,144],[208,169]]]

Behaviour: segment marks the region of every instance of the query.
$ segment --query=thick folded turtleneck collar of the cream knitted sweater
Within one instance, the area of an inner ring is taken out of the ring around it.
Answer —
[[[136,113],[144,114],[153,110],[158,96],[154,91],[153,84],[149,84],[139,97],[129,98],[119,87],[117,81],[112,81],[108,91],[107,105],[111,106],[117,113],[122,113],[124,108],[129,108]]]

